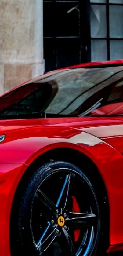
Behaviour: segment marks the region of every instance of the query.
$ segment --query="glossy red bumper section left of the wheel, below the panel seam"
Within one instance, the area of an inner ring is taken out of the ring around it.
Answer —
[[[18,163],[0,164],[0,255],[9,256],[9,222],[13,196],[27,165]]]

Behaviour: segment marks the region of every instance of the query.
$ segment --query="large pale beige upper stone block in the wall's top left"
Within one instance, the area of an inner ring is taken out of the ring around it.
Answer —
[[[35,0],[0,0],[0,62],[34,59]]]

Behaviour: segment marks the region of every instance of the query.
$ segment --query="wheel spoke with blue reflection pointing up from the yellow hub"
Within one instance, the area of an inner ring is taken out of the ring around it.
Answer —
[[[63,208],[63,210],[66,207],[67,200],[68,200],[68,193],[69,193],[69,187],[70,187],[70,178],[71,178],[71,174],[66,176],[63,187],[62,187],[62,190],[60,192],[60,195],[59,195],[57,203],[56,203],[56,207],[58,207],[59,204],[60,204],[60,201],[62,199],[62,208]]]

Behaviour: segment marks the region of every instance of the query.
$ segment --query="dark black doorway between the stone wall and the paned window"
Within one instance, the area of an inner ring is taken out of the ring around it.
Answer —
[[[89,1],[44,0],[45,72],[90,61]]]

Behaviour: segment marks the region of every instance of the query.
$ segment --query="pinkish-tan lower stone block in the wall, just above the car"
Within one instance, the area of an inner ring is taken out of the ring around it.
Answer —
[[[4,91],[32,78],[32,65],[4,65]]]

